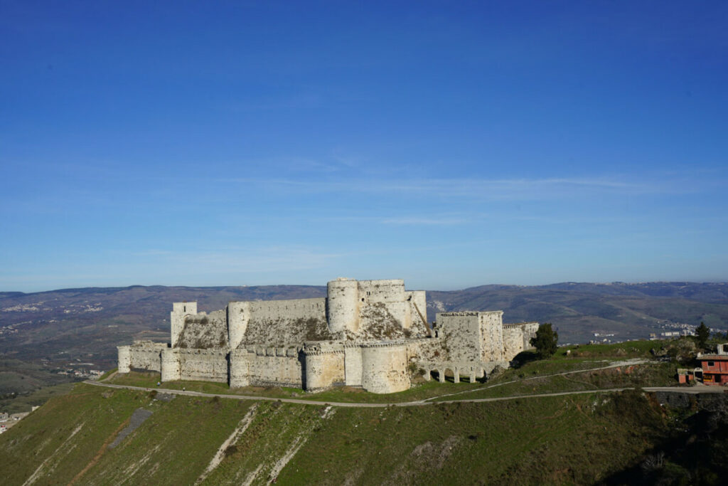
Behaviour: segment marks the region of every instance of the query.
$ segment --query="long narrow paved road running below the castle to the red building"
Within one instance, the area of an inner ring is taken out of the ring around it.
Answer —
[[[533,395],[518,395],[518,396],[496,396],[487,399],[462,399],[462,400],[447,400],[447,401],[403,401],[400,403],[389,403],[389,404],[373,404],[373,403],[347,403],[343,401],[315,401],[315,400],[301,400],[301,399],[278,399],[270,396],[256,396],[256,395],[225,395],[222,393],[202,393],[201,391],[181,391],[173,390],[170,388],[144,388],[141,386],[131,385],[114,385],[112,383],[101,383],[98,381],[86,381],[89,385],[105,386],[108,388],[125,388],[127,390],[139,390],[139,391],[151,391],[157,390],[159,393],[172,393],[174,395],[187,395],[187,396],[219,396],[223,399],[234,399],[234,400],[257,400],[257,401],[282,401],[290,404],[303,404],[303,405],[331,405],[333,407],[358,407],[358,408],[379,408],[379,407],[422,407],[423,405],[432,404],[449,404],[449,403],[480,403],[485,401],[505,401],[505,400],[517,400],[517,399],[534,399],[545,396],[563,396],[563,395],[583,395],[585,393],[614,393],[616,391],[633,390],[634,388],[606,388],[601,390],[582,390],[582,391],[561,391],[557,393],[538,393]],[[642,388],[644,391],[667,391],[667,392],[678,392],[678,393],[724,393],[723,387],[718,386],[694,386],[694,387],[669,387],[669,386],[656,386]],[[438,398],[438,397],[432,397]],[[432,400],[432,399],[427,399]]]

